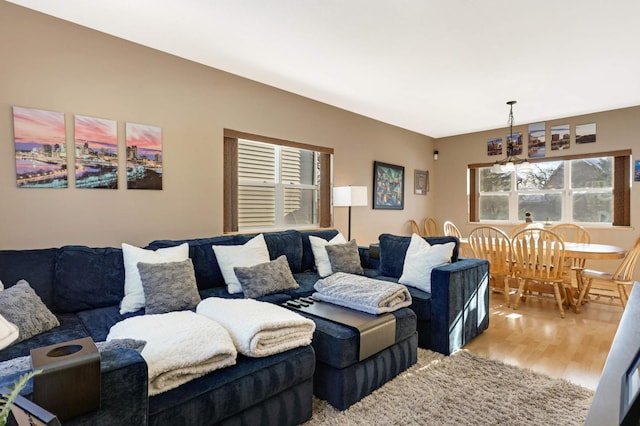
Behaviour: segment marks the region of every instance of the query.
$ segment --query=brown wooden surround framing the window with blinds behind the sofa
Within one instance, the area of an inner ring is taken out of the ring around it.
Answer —
[[[268,136],[255,135],[237,130],[224,129],[224,223],[225,233],[238,232],[238,140],[247,139],[255,142],[268,143],[281,147],[291,147],[317,152],[319,155],[320,178],[318,182],[318,226],[331,226],[331,166],[333,148],[308,145],[287,141]],[[265,229],[279,229],[278,227]]]

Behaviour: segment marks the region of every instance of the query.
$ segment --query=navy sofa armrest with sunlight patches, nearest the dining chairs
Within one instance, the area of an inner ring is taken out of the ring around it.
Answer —
[[[489,262],[462,259],[431,274],[431,349],[449,355],[489,327]]]

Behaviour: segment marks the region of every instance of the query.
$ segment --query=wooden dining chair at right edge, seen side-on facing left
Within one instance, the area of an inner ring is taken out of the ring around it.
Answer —
[[[589,294],[592,286],[597,288],[605,288],[607,290],[617,291],[620,296],[620,303],[622,308],[627,306],[627,300],[629,300],[629,293],[633,287],[633,270],[636,267],[638,256],[640,255],[640,238],[636,240],[633,248],[627,252],[624,259],[620,263],[620,266],[615,272],[602,272],[593,269],[583,269],[580,271],[580,277],[582,281],[582,288],[578,295],[578,302],[576,305],[576,311],[580,310],[584,298]]]

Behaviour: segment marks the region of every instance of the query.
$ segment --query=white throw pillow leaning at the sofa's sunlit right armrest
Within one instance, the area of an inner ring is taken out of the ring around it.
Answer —
[[[418,234],[413,234],[398,282],[431,293],[431,271],[451,262],[455,246],[456,243],[431,245]]]

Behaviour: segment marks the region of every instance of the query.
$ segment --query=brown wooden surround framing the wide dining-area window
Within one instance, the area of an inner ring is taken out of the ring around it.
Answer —
[[[546,162],[546,161],[567,161],[581,160],[586,158],[597,157],[613,157],[613,217],[610,226],[630,226],[631,225],[631,150],[594,152],[588,154],[563,155],[545,158],[529,158],[530,163]],[[469,222],[480,223],[480,169],[491,167],[493,163],[474,163],[468,167],[469,182]],[[514,173],[515,176],[515,173]],[[515,179],[511,182],[512,188],[515,187]],[[513,189],[512,189],[513,190]],[[565,189],[566,190],[566,189]],[[517,192],[517,190],[516,190]],[[518,192],[517,192],[518,193]],[[566,195],[563,195],[563,202]],[[509,220],[482,220],[482,223],[513,223],[512,207],[509,206]],[[516,209],[517,210],[517,209]],[[517,218],[515,218],[517,220]],[[589,226],[592,223],[588,224]],[[607,226],[606,224],[597,224],[595,226]]]

